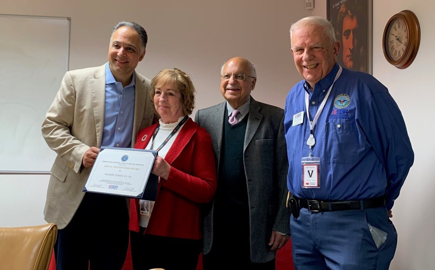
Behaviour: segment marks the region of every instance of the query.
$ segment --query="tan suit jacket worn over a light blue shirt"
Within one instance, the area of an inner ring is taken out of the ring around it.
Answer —
[[[135,85],[132,147],[137,132],[158,119],[151,102],[150,80],[135,73]],[[82,159],[91,146],[101,146],[105,91],[105,64],[68,71],[43,122],[42,135],[57,153],[51,168],[44,218],[56,223],[59,229],[68,225],[84,197],[82,189],[90,168],[82,166]]]

